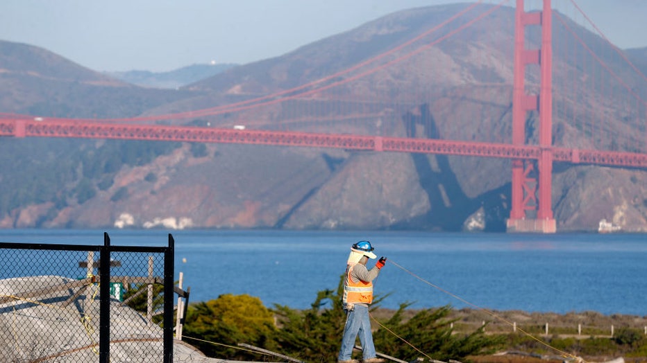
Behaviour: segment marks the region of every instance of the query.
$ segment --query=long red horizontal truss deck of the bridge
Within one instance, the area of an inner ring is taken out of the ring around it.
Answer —
[[[550,150],[554,161],[620,166],[624,168],[647,168],[647,154],[632,152],[545,148],[539,145],[510,145],[505,143],[386,136],[233,130],[215,127],[168,125],[126,125],[63,119],[49,121],[35,121],[29,118],[0,119],[0,136],[241,143],[377,152],[419,152],[521,160],[539,160],[542,152]]]

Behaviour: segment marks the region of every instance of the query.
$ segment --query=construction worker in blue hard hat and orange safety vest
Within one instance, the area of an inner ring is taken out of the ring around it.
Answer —
[[[358,335],[362,344],[362,362],[380,363],[382,358],[376,357],[371,333],[371,319],[369,319],[369,305],[373,302],[373,280],[378,277],[380,269],[384,267],[387,259],[380,257],[370,270],[366,263],[369,258],[376,258],[373,254],[371,242],[362,240],[351,247],[346,263],[346,278],[344,280],[344,310],[346,310],[346,325],[342,348],[339,349],[338,363],[358,363],[351,359]]]

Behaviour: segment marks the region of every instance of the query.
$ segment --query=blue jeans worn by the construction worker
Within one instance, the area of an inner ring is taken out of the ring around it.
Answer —
[[[346,326],[344,326],[342,348],[339,349],[337,360],[351,359],[355,339],[357,339],[358,335],[360,336],[360,343],[362,343],[362,357],[365,360],[376,357],[369,308],[361,305],[355,305],[353,310],[346,310]]]

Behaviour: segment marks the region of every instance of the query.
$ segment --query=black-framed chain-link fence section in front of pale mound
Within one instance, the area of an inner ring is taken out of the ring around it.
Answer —
[[[173,360],[167,247],[0,242],[0,362]]]

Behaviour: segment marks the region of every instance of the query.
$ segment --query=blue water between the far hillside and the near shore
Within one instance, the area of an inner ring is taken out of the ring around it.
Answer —
[[[103,232],[2,230],[0,242],[103,245]],[[351,245],[367,239],[388,258],[375,281],[376,294],[386,296],[383,308],[410,302],[411,308],[647,315],[644,234],[106,232],[112,245],[159,247],[171,233],[176,280],[182,272],[190,302],[250,294],[268,307],[309,308],[319,290],[337,287]]]

